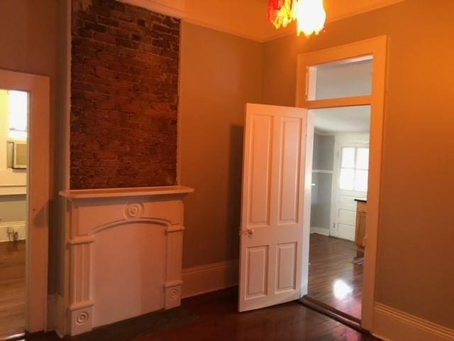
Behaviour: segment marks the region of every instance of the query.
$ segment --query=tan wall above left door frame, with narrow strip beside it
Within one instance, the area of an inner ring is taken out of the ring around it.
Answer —
[[[51,201],[50,201],[50,269],[57,266],[58,208],[57,187],[62,180],[62,172],[57,171],[62,153],[61,145],[55,148],[60,139],[57,125],[57,0],[2,0],[0,1],[0,68],[28,72],[50,77],[51,131]],[[61,168],[60,168],[61,169]],[[49,291],[56,290],[55,271],[49,271]]]

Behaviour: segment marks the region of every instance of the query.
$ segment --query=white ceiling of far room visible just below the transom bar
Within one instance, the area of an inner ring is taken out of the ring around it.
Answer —
[[[316,109],[315,130],[321,134],[368,133],[370,106]]]

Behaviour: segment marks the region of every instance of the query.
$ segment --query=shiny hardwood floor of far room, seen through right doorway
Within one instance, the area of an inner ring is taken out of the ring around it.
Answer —
[[[311,234],[309,296],[361,318],[362,266],[353,264],[355,256],[355,243]]]

